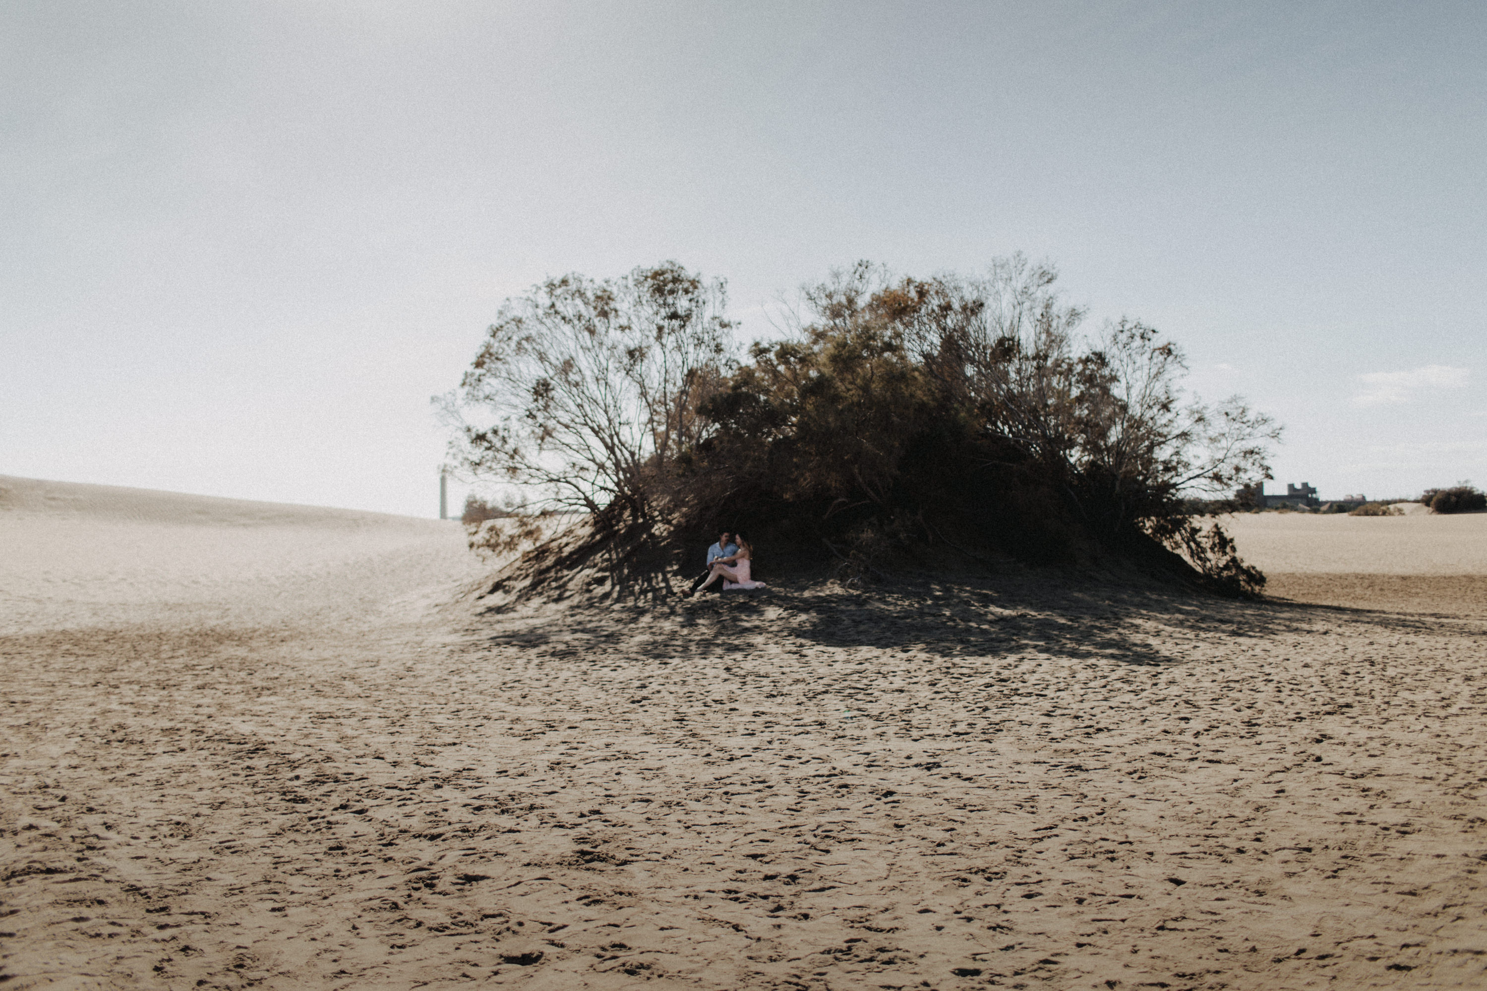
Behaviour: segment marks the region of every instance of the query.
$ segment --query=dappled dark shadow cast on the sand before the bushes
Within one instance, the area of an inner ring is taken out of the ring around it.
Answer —
[[[485,609],[492,645],[555,654],[620,651],[639,657],[746,654],[791,640],[822,648],[916,651],[931,657],[1048,654],[1135,666],[1196,663],[1170,652],[1173,630],[1199,639],[1273,640],[1335,623],[1425,631],[1442,618],[1419,612],[1234,600],[1142,576],[1010,574],[885,582],[865,590],[831,581],[782,581],[757,594],[688,602],[581,596],[526,611]],[[500,614],[507,614],[498,618]],[[483,626],[483,624],[482,624]],[[705,646],[703,646],[705,645]]]

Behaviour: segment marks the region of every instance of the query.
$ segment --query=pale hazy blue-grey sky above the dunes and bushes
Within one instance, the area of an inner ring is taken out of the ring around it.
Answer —
[[[1484,51],[1478,3],[7,0],[0,474],[437,516],[430,397],[550,275],[675,259],[746,340],[1022,251],[1280,420],[1270,490],[1484,484]]]

